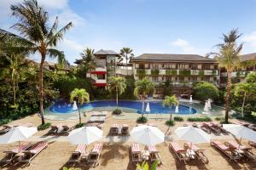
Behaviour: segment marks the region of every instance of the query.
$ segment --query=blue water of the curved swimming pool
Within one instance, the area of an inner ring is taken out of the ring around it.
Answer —
[[[145,102],[144,105],[144,112],[146,110],[146,105],[148,102]],[[150,113],[156,114],[168,114],[168,113],[174,113],[175,106],[172,107],[172,109],[163,107],[162,102],[160,101],[150,101]],[[102,101],[92,101],[88,104],[84,104],[81,106],[82,110],[93,110],[97,108],[107,108],[107,107],[116,107],[115,101],[110,100],[102,100]],[[120,100],[119,101],[119,107],[132,109],[137,111],[137,113],[142,113],[142,107],[143,102],[142,101],[127,101],[127,100]],[[49,111],[56,113],[56,114],[69,114],[77,110],[73,110],[73,104],[70,104],[68,102],[65,102],[63,100],[55,102],[54,105],[51,105],[49,107]],[[196,110],[194,108],[189,108],[187,105],[178,105],[178,113],[181,115],[188,115],[188,114],[195,114]]]

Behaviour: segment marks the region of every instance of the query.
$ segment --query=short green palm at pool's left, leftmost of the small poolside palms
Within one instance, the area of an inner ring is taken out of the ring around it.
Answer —
[[[90,102],[90,94],[86,92],[84,88],[75,88],[71,93],[70,93],[70,102],[73,103],[74,99],[78,99],[79,101],[79,124],[81,124],[81,112],[80,112],[80,107],[84,103]]]

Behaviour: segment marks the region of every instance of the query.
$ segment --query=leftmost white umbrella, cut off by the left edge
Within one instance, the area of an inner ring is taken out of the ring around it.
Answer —
[[[8,133],[0,136],[0,144],[9,144],[12,142],[24,140],[37,132],[37,127],[15,127],[10,129]]]

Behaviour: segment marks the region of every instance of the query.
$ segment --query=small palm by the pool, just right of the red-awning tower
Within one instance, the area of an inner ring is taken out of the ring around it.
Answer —
[[[126,84],[124,77],[109,77],[108,78],[109,91],[115,92],[116,94],[116,106],[119,105],[119,94],[125,92]]]

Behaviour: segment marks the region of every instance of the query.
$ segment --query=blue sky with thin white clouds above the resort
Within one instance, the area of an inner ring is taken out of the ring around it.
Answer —
[[[0,0],[0,28],[13,31],[17,20],[10,4]],[[201,54],[217,52],[222,34],[238,28],[242,54],[256,52],[256,0],[38,0],[49,12],[49,24],[73,27],[56,48],[73,64],[84,48],[133,49],[144,53]],[[32,59],[39,59],[38,54]],[[48,60],[52,60],[49,59]]]

